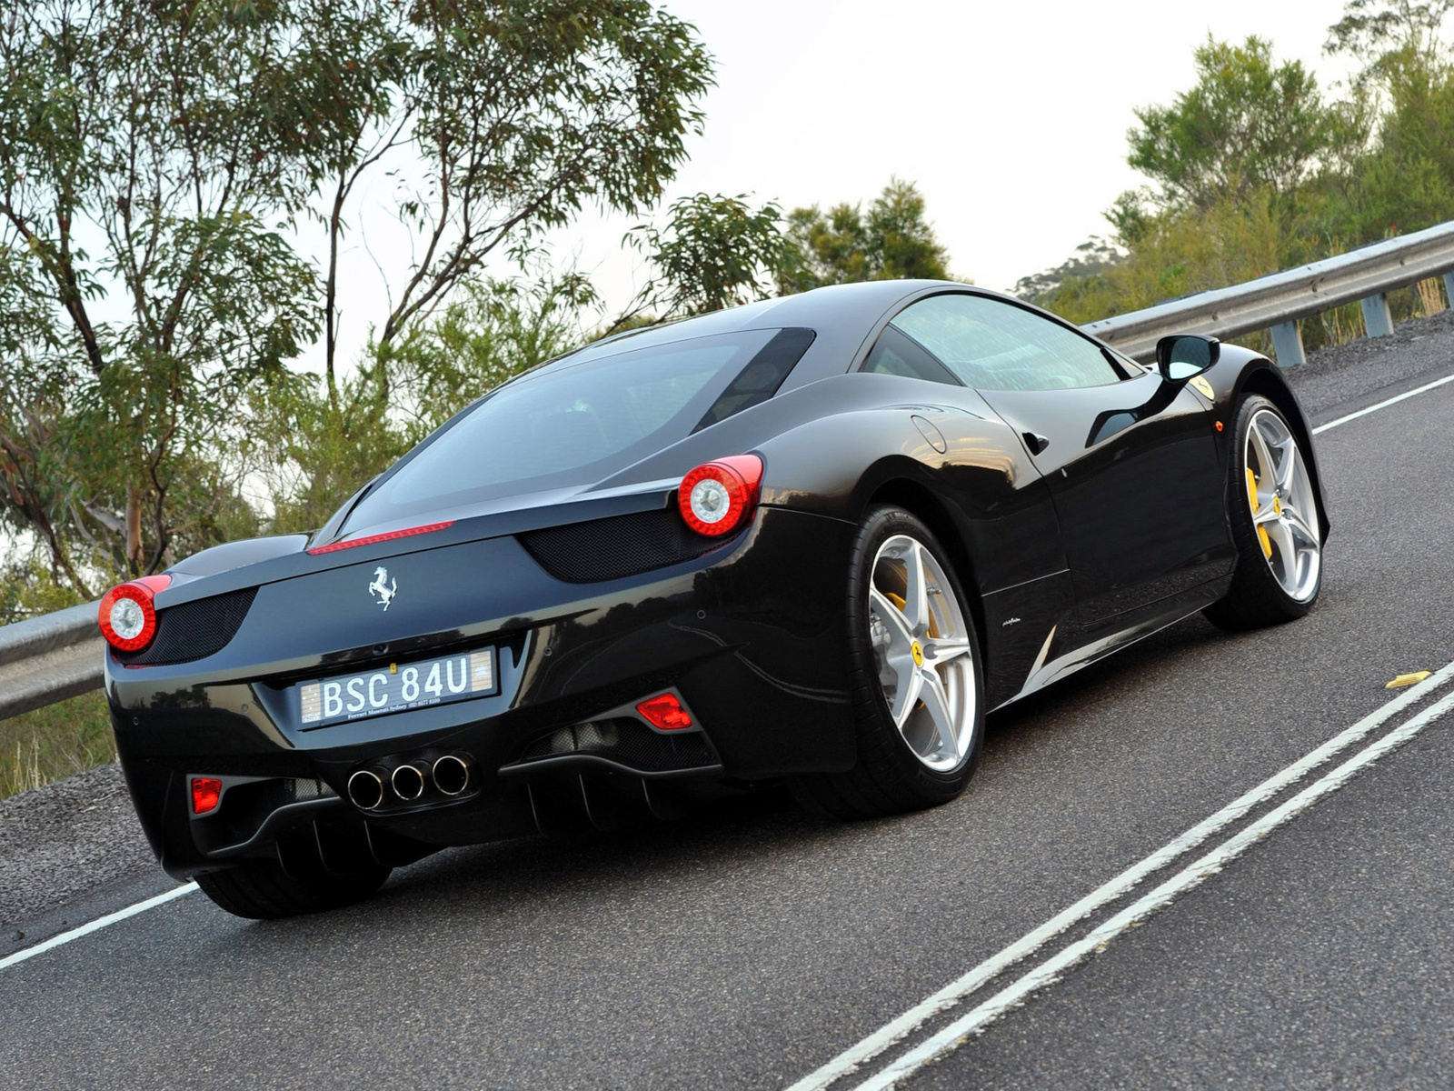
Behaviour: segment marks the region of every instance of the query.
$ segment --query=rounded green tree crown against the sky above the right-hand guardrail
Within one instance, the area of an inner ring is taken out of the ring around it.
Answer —
[[[1325,157],[1359,135],[1328,106],[1300,61],[1274,65],[1262,38],[1211,38],[1195,52],[1197,84],[1170,106],[1136,111],[1127,161],[1159,182],[1165,205],[1208,208],[1258,189],[1291,196]]]

